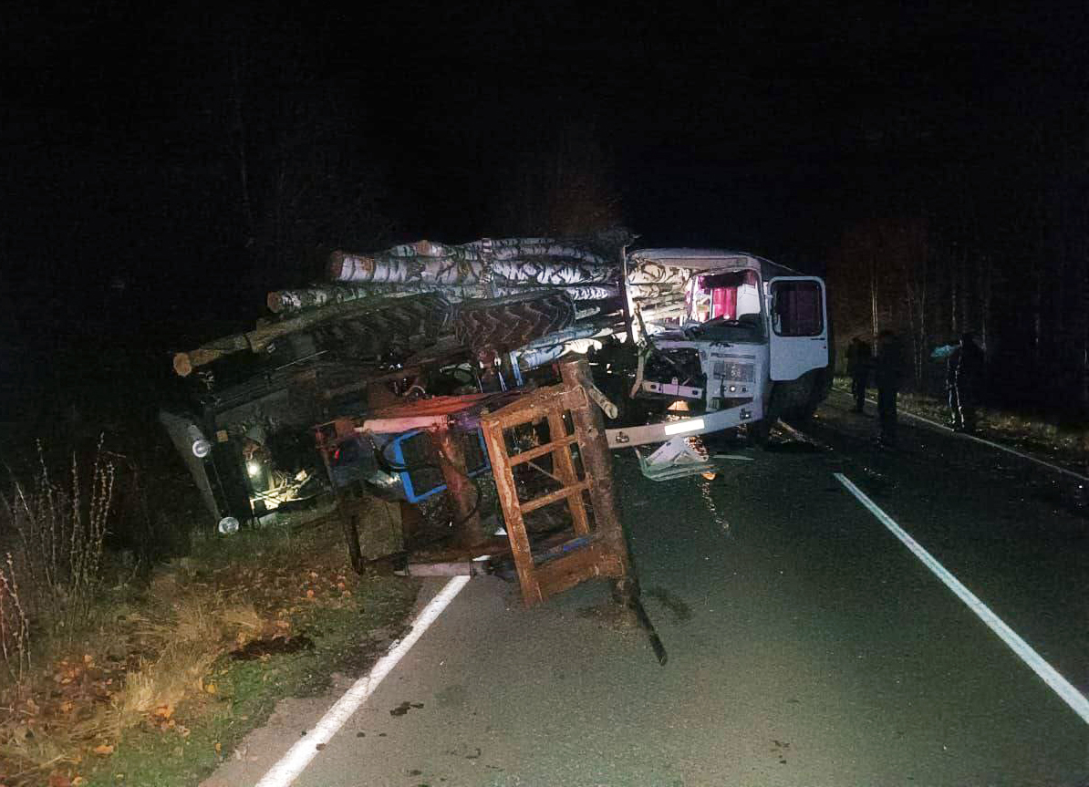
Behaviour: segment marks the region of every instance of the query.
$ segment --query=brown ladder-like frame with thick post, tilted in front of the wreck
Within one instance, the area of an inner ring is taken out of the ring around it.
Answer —
[[[616,516],[604,422],[587,396],[587,388],[592,384],[589,369],[583,360],[561,364],[560,371],[562,384],[535,391],[480,418],[526,606],[594,577],[621,578],[629,573],[627,545]],[[548,443],[514,454],[507,451],[507,430],[542,420],[549,426]],[[582,478],[572,446],[578,448]],[[531,466],[558,481],[560,489],[533,500],[518,500],[514,468],[546,455],[552,457],[552,472]],[[561,501],[570,509],[573,537],[535,556],[525,515]]]

